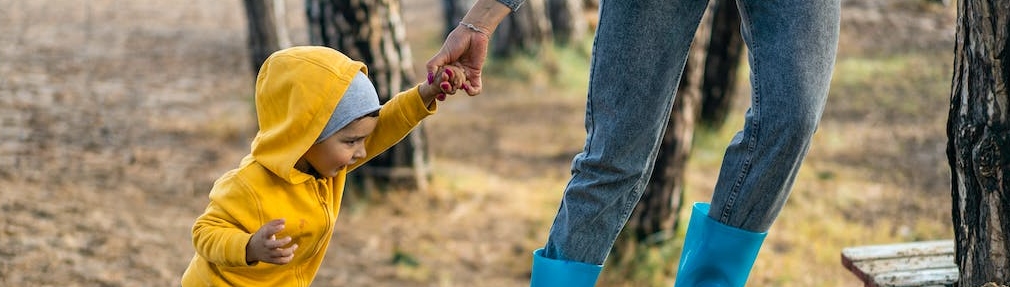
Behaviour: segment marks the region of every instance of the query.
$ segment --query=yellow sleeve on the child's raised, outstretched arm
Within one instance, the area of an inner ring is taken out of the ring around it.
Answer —
[[[365,150],[368,156],[365,161],[359,161],[348,171],[386,152],[390,147],[406,137],[407,133],[420,124],[422,119],[437,111],[438,107],[435,101],[432,101],[430,106],[425,105],[417,89],[418,87],[414,86],[383,104],[382,109],[379,110],[379,122],[376,124],[376,129],[372,135],[365,139]]]

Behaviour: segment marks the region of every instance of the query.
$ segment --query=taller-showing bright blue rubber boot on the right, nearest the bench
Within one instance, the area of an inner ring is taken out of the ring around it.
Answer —
[[[709,203],[696,202],[681,251],[676,287],[741,287],[768,232],[752,232],[708,217]]]

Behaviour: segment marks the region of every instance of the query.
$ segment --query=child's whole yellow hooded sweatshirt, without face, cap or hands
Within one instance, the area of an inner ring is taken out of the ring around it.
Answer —
[[[183,286],[309,286],[322,263],[340,209],[344,178],[402,139],[421,119],[435,112],[417,87],[393,97],[379,112],[366,138],[368,158],[333,178],[315,178],[295,169],[330,118],[351,79],[367,74],[361,62],[328,47],[280,51],[257,78],[260,131],[251,154],[225,173],[210,191],[210,203],[193,225],[196,255],[183,274]],[[278,238],[298,244],[286,265],[245,262],[245,245],[270,220],[285,218]]]

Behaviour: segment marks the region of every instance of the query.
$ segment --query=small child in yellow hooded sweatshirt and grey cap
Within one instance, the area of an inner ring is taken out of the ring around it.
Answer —
[[[347,172],[433,114],[436,98],[467,87],[457,69],[429,75],[380,108],[361,62],[323,46],[272,55],[257,77],[251,153],[214,183],[193,225],[196,255],[182,285],[309,286]]]

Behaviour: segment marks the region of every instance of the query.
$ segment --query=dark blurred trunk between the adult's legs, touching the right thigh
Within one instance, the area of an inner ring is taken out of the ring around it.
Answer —
[[[705,56],[705,75],[701,84],[701,118],[703,125],[718,128],[726,121],[736,98],[737,69],[743,54],[740,36],[740,13],[736,1],[715,0],[712,32]]]

